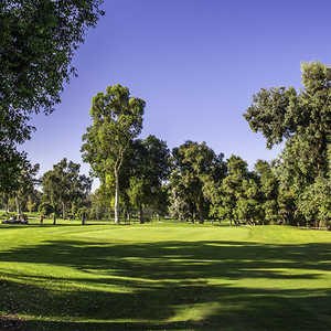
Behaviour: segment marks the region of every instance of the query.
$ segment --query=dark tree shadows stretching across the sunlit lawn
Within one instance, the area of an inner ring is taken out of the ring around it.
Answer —
[[[0,261],[82,271],[0,271],[0,311],[49,319],[28,320],[29,330],[331,330],[330,290],[263,287],[318,281],[331,270],[331,244],[52,241]],[[254,286],[237,284],[245,279]]]

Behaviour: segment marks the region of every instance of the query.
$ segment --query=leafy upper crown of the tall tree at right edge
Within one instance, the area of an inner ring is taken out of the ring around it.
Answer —
[[[302,63],[303,89],[261,88],[244,117],[253,131],[267,139],[267,147],[287,139],[286,153],[295,159],[300,175],[325,175],[327,141],[331,129],[331,89],[325,65]],[[287,163],[290,160],[285,160]]]

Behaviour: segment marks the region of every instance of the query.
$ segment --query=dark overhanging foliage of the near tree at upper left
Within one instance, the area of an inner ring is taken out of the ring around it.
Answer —
[[[76,75],[72,58],[102,2],[0,1],[0,189],[11,186],[25,159],[15,145],[30,139],[31,115],[52,113]]]

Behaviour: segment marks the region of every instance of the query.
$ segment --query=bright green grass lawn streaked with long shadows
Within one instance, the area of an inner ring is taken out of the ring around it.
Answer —
[[[331,232],[170,221],[0,225],[6,325],[331,330]]]

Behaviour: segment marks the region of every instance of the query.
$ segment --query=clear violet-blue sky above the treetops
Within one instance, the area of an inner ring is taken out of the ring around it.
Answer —
[[[147,102],[142,138],[170,148],[206,141],[216,152],[270,160],[243,113],[260,87],[300,88],[300,62],[331,64],[331,1],[105,0],[106,15],[75,56],[78,78],[23,146],[41,173],[82,162],[92,97],[122,84]],[[88,166],[83,167],[87,173]]]

